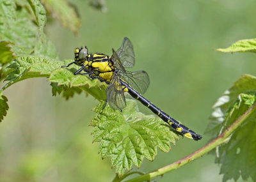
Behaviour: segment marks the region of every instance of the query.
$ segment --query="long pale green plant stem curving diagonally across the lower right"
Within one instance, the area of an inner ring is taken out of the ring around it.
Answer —
[[[156,171],[149,172],[147,174],[144,174],[142,176],[130,179],[125,182],[139,182],[139,181],[147,181],[152,178],[156,178],[157,176],[162,176],[166,172],[173,171],[175,169],[178,169],[179,167],[182,167],[182,165],[185,165],[192,160],[195,160],[196,158],[199,158],[202,155],[205,155],[212,149],[216,148],[217,146],[220,146],[220,144],[223,144],[229,140],[228,137],[236,130],[237,127],[239,127],[249,116],[256,110],[256,103],[253,104],[252,107],[250,107],[246,112],[244,112],[243,115],[241,115],[234,123],[229,126],[219,137],[212,140],[208,144],[206,144],[203,148],[198,149],[194,153],[192,153],[189,156],[186,156],[185,158],[182,158],[181,160],[178,160],[177,162],[174,162],[170,165],[166,165],[160,169],[157,169]]]

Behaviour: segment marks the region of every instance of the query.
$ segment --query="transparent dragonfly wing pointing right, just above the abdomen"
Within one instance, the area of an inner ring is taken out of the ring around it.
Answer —
[[[129,84],[129,86],[131,86],[133,89],[141,94],[144,94],[147,91],[150,83],[148,74],[145,71],[126,71],[125,74],[120,73],[120,77],[121,79],[124,79],[125,82]]]

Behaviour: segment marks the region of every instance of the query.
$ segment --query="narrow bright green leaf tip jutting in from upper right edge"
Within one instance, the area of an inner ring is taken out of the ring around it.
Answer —
[[[221,52],[256,52],[256,39],[239,40],[226,49],[217,49]]]

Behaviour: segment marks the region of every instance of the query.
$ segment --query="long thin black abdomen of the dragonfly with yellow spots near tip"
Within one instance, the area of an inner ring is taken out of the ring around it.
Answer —
[[[196,134],[193,132],[193,130],[190,130],[188,127],[182,125],[179,123],[179,121],[176,121],[171,116],[163,112],[163,110],[159,109],[156,105],[151,103],[147,98],[142,96],[140,93],[138,93],[136,90],[134,90],[129,84],[121,80],[122,85],[125,86],[128,89],[129,94],[133,97],[139,100],[143,105],[148,107],[148,109],[152,110],[154,114],[159,116],[159,118],[163,119],[164,122],[168,123],[168,125],[172,126],[177,132],[182,133],[185,137],[188,137],[190,139],[194,140],[200,140],[202,139],[201,135]]]

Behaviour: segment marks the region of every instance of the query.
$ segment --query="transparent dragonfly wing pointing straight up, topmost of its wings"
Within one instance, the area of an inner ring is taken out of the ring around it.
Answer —
[[[129,38],[125,37],[121,47],[116,50],[116,54],[120,57],[124,68],[131,68],[135,63],[135,56],[133,51],[133,45]]]

